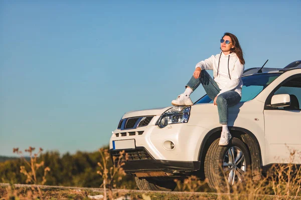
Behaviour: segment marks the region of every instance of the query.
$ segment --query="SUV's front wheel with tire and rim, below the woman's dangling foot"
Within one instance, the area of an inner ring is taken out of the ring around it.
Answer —
[[[212,190],[226,192],[228,191],[227,185],[231,190],[233,185],[242,182],[244,177],[249,174],[250,152],[243,141],[236,137],[233,137],[227,146],[220,146],[218,142],[219,138],[208,148],[204,171]],[[235,158],[239,159],[233,162],[233,158],[234,160]]]

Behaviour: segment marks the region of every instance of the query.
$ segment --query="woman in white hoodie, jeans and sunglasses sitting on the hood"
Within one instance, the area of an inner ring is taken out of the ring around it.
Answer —
[[[231,134],[228,129],[228,107],[241,99],[242,80],[245,61],[237,37],[229,32],[221,39],[221,52],[196,65],[193,76],[173,105],[192,105],[190,94],[202,83],[206,93],[217,105],[219,121],[222,124],[219,145],[228,145]],[[213,77],[206,70],[213,70]]]

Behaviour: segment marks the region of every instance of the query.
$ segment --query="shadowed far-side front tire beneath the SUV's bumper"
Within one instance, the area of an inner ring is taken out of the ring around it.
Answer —
[[[140,190],[155,190],[155,191],[174,191],[177,183],[173,180],[154,180],[150,178],[138,178],[135,176],[135,181]]]

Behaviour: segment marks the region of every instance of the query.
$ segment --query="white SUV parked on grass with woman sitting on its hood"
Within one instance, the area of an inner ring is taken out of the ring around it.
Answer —
[[[208,178],[216,190],[223,175],[231,185],[248,170],[260,179],[271,164],[288,163],[287,146],[301,151],[301,60],[246,69],[242,81],[242,99],[229,108],[227,146],[218,145],[217,107],[204,95],[192,106],[125,113],[110,139],[111,156],[128,153],[123,168],[143,190],[173,190],[174,178],[189,175]]]

